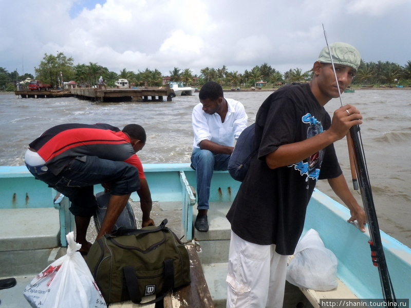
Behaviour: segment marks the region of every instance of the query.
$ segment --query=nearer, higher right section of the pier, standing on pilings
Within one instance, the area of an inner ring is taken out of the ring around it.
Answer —
[[[98,89],[73,88],[70,89],[74,97],[98,102],[171,102],[175,96],[174,90],[163,89]]]

